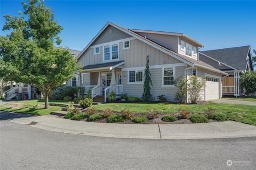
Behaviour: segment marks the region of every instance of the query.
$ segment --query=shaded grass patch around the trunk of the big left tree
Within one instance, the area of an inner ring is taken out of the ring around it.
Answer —
[[[67,101],[62,100],[49,100],[50,103],[61,103],[68,104]],[[44,99],[39,100],[23,100],[12,103],[6,103],[3,106],[0,106],[0,111],[8,111],[15,113],[27,113],[33,115],[47,115],[52,111],[60,111],[61,107],[58,106],[49,106],[48,109],[44,109],[44,106],[36,107],[38,104],[44,104]]]

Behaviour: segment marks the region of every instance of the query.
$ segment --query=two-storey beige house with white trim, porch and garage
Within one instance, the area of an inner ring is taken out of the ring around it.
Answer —
[[[178,101],[174,80],[190,75],[207,78],[201,100],[219,99],[222,76],[228,73],[199,60],[201,47],[183,33],[127,29],[108,22],[77,56],[77,65],[82,66],[77,86],[85,92],[91,89],[92,98],[105,101],[112,90],[117,97],[123,93],[141,97],[149,56],[152,100],[165,95],[167,101]]]

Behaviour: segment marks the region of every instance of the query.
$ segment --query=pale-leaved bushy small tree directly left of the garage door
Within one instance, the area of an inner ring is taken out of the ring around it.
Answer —
[[[196,77],[191,75],[187,80],[187,92],[191,103],[197,103],[199,100],[200,92],[205,86],[205,78]]]

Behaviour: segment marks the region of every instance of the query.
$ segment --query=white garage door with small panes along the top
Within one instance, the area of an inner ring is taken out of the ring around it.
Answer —
[[[219,79],[206,77],[205,100],[219,99]]]

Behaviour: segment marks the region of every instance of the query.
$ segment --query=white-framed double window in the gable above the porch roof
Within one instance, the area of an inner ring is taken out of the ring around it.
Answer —
[[[104,53],[103,53],[103,60],[109,61],[109,60],[117,60],[118,59],[118,44],[112,44],[112,45],[106,45],[104,46]]]

